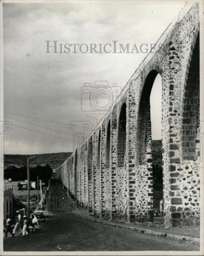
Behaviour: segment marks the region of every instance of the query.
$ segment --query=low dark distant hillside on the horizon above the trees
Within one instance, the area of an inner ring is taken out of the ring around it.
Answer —
[[[30,157],[30,166],[37,165],[45,166],[48,164],[50,167],[57,168],[60,166],[72,152],[51,153],[51,154],[37,154],[37,155],[4,155],[4,168],[14,165],[22,167],[27,163],[27,157]]]

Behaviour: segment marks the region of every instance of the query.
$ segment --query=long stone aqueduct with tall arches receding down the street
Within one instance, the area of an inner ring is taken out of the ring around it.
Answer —
[[[57,169],[99,218],[153,220],[150,93],[162,77],[164,224],[199,224],[199,6],[183,9],[130,78],[110,112]]]

